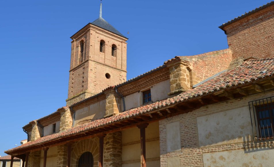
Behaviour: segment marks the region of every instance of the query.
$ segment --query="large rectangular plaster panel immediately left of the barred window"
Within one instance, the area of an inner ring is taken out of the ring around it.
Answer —
[[[197,117],[197,127],[200,147],[246,142],[252,138],[248,106]]]

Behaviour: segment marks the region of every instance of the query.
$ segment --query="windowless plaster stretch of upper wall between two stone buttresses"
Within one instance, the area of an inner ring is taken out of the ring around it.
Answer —
[[[91,104],[84,108],[75,111],[75,125],[86,123],[87,121],[92,121],[101,119],[104,117],[106,110],[106,100],[101,100],[98,103]]]

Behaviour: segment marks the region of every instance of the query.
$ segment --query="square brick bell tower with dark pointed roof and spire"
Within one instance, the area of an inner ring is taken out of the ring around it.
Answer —
[[[102,1],[99,18],[71,40],[67,106],[126,81],[128,38],[102,18]]]

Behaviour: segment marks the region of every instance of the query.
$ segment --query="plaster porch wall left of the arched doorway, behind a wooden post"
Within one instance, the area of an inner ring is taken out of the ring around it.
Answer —
[[[46,167],[53,167],[57,166],[57,146],[55,147],[50,147],[47,150],[47,163]],[[40,167],[43,167],[44,164],[44,151],[41,151],[41,160],[40,160]]]

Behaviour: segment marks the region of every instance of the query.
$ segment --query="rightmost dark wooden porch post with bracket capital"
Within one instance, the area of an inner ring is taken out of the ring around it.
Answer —
[[[148,123],[137,125],[141,137],[141,167],[146,167],[146,127],[148,125]]]

